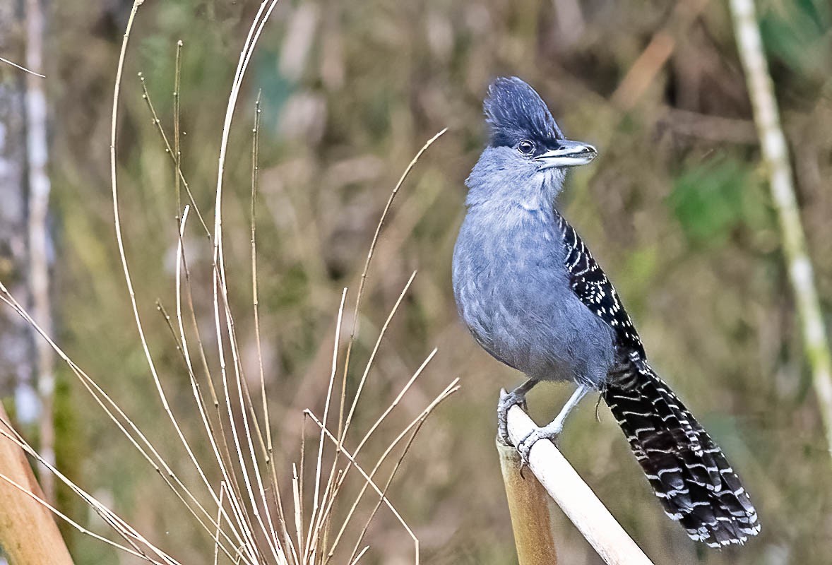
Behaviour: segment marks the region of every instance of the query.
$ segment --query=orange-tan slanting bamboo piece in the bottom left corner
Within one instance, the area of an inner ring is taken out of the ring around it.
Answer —
[[[10,427],[8,416],[0,404],[0,429]],[[10,439],[2,436],[0,473],[43,499],[43,492],[26,455]],[[67,545],[49,509],[3,479],[0,479],[0,546],[9,565],[72,565]]]

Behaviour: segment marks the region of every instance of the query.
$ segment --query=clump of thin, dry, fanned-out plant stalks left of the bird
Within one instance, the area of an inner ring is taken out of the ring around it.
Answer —
[[[458,389],[458,381],[454,380],[448,384],[432,402],[428,403],[416,419],[401,430],[394,440],[386,445],[386,448],[381,449],[381,455],[378,458],[369,461],[370,466],[362,462],[361,458],[359,458],[359,452],[362,451],[365,445],[372,441],[375,441],[377,447],[379,447],[377,431],[385,419],[388,418],[389,414],[399,405],[404,394],[407,394],[409,389],[411,389],[415,380],[423,374],[423,370],[430,360],[433,359],[433,355],[436,353],[435,350],[428,355],[423,364],[407,380],[393,402],[381,410],[378,419],[376,419],[369,431],[361,436],[356,447],[353,449],[348,448],[348,444],[354,443],[349,431],[354,415],[357,414],[356,407],[359,398],[371,382],[369,380],[369,374],[375,356],[382,339],[384,339],[386,330],[392,322],[399,305],[402,303],[410,284],[414,280],[415,272],[404,286],[399,300],[394,305],[394,308],[379,331],[379,337],[376,340],[373,352],[363,369],[358,389],[350,396],[347,394],[346,387],[342,385],[341,394],[336,399],[334,398],[336,396],[334,394],[336,379],[340,376],[342,383],[345,383],[347,371],[350,369],[348,361],[344,360],[344,363],[341,364],[339,359],[339,352],[342,345],[340,339],[341,324],[347,297],[347,290],[344,289],[337,315],[338,321],[335,326],[332,370],[329,374],[324,414],[322,417],[319,417],[310,410],[306,410],[303,413],[304,418],[309,419],[311,423],[317,426],[316,435],[318,444],[315,450],[316,453],[307,451],[305,441],[301,444],[299,454],[300,463],[292,464],[292,475],[290,484],[288,485],[287,483],[281,483],[280,475],[275,468],[274,445],[272,443],[274,434],[268,412],[265,369],[260,352],[260,317],[257,291],[255,201],[258,180],[259,101],[255,107],[254,129],[252,131],[250,230],[252,274],[250,314],[254,319],[255,339],[258,342],[257,353],[260,373],[258,388],[261,397],[259,403],[255,404],[252,400],[250,391],[246,385],[247,380],[245,374],[243,374],[243,367],[240,361],[240,345],[238,344],[234,323],[235,314],[232,312],[229,300],[231,273],[229,270],[226,270],[223,249],[223,169],[228,150],[231,121],[235,114],[236,102],[240,95],[245,70],[249,65],[255,44],[260,37],[260,32],[262,32],[265,22],[269,19],[275,4],[276,0],[266,0],[260,5],[255,20],[251,24],[245,45],[240,52],[240,61],[238,62],[235,78],[231,86],[225,113],[225,124],[221,134],[213,230],[208,230],[206,222],[203,221],[203,216],[195,205],[191,188],[187,184],[186,177],[181,169],[180,126],[178,122],[179,93],[181,88],[179,82],[181,42],[178,42],[176,46],[176,86],[173,101],[174,140],[172,148],[165,127],[162,126],[161,121],[156,116],[150,95],[144,87],[145,77],[142,77],[140,74],[142,96],[146,100],[149,112],[151,112],[153,125],[159,132],[161,141],[167,152],[172,157],[173,176],[176,184],[177,208],[175,217],[178,221],[178,230],[175,235],[178,238],[176,245],[176,308],[172,315],[170,315],[161,301],[157,301],[156,306],[171,332],[171,339],[175,342],[177,350],[181,354],[181,359],[191,384],[194,403],[196,404],[196,409],[202,424],[204,439],[210,445],[212,457],[209,460],[200,460],[200,458],[197,458],[195,450],[191,448],[191,443],[186,439],[185,434],[181,430],[179,417],[174,413],[171,405],[167,401],[162,371],[156,367],[148,340],[146,339],[144,322],[141,320],[139,314],[139,300],[136,297],[130,262],[126,256],[124,236],[121,229],[118,179],[116,175],[116,124],[118,122],[118,102],[121,93],[121,79],[124,71],[126,50],[131,37],[131,29],[136,18],[136,12],[141,6],[141,0],[136,0],[133,4],[124,34],[118,70],[116,72],[116,82],[113,92],[113,112],[111,117],[110,155],[114,224],[116,227],[116,241],[121,259],[121,267],[133,310],[136,330],[145,353],[146,364],[155,385],[156,394],[176,434],[176,439],[186,453],[186,461],[190,461],[196,469],[199,478],[197,484],[186,485],[183,483],[171,464],[161,456],[161,453],[156,449],[151,439],[146,437],[130,417],[118,407],[118,404],[89,375],[75,364],[72,359],[69,359],[67,354],[49,337],[48,332],[32,319],[32,316],[14,299],[2,283],[0,283],[0,301],[12,307],[28,324],[32,325],[32,328],[42,336],[47,346],[77,376],[85,389],[92,395],[93,399],[96,400],[97,404],[104,410],[111,421],[121,430],[121,433],[125,435],[126,439],[141,453],[141,456],[146,459],[146,462],[151,468],[159,473],[162,482],[179,499],[198,527],[206,533],[206,540],[210,540],[212,545],[214,563],[241,563],[243,565],[260,565],[261,563],[318,565],[330,562],[349,563],[349,565],[352,565],[353,563],[359,563],[369,549],[368,546],[362,545],[364,543],[364,535],[369,528],[369,523],[379,508],[384,506],[394,515],[394,518],[412,540],[414,544],[414,563],[418,565],[418,538],[416,538],[413,530],[409,528],[404,518],[401,517],[394,507],[394,504],[389,500],[387,493],[395,474],[399,470],[402,458],[408,452],[424,420],[439,403],[447,399],[448,395],[453,394]],[[394,196],[398,193],[401,186],[403,186],[409,172],[418,161],[418,157],[443,132],[440,131],[418,151],[389,197],[374,239],[370,244],[370,251],[361,275],[359,292],[356,296],[354,318],[358,317],[361,296],[364,292],[364,280],[368,275],[369,265],[374,254],[379,233],[390,210]],[[191,201],[190,204],[183,208],[180,208],[181,198],[179,191],[181,186],[185,187],[188,198]],[[193,281],[191,280],[191,272],[188,269],[185,245],[185,234],[188,229],[187,221],[189,216],[191,216],[191,211],[199,218],[201,231],[207,235],[210,245],[213,247],[214,263],[211,277],[214,331],[215,342],[217,343],[215,351],[206,350],[200,335],[200,325],[197,323],[195,295],[192,289]],[[344,356],[347,358],[349,358],[349,351],[351,351],[354,339],[356,339],[355,328],[350,332],[349,341],[346,345],[347,353]],[[215,371],[210,369],[212,363],[209,359],[219,366],[219,374],[215,374]],[[339,366],[343,367],[343,374],[341,375],[339,375]],[[336,412],[333,405],[334,402],[339,403],[337,424],[333,421],[332,416]],[[258,414],[258,404],[260,405],[260,414]],[[349,414],[346,414],[346,407],[348,405]],[[298,415],[300,417],[301,414],[299,413]],[[330,428],[337,429],[337,433],[331,431]],[[0,429],[0,435],[2,435],[2,438],[17,444],[19,448],[23,449],[33,458],[36,458],[38,462],[42,463],[54,473],[58,480],[67,484],[73,492],[77,493],[78,496],[101,516],[105,523],[113,528],[121,539],[116,542],[87,531],[81,525],[72,522],[69,518],[58,513],[57,509],[49,506],[42,500],[42,497],[37,496],[37,493],[30,493],[30,497],[34,498],[38,503],[41,503],[44,508],[49,508],[52,512],[57,513],[82,533],[99,538],[104,543],[110,543],[126,553],[143,559],[147,563],[178,565],[179,562],[176,561],[176,558],[171,557],[171,555],[161,550],[161,548],[156,547],[142,536],[141,533],[137,532],[135,528],[131,528],[116,513],[104,507],[89,493],[83,491],[82,488],[79,488],[67,477],[62,475],[50,462],[32,449],[25,439],[13,429]],[[378,451],[378,449],[376,450]],[[311,460],[312,465],[310,468],[307,468],[307,459]],[[388,461],[394,461],[394,463],[385,465]],[[385,471],[386,476],[379,478],[382,468],[387,468],[388,470]],[[351,490],[348,489],[346,481],[349,476],[356,474],[358,475],[356,478],[358,479],[360,488],[357,489],[358,493],[353,499],[352,506],[346,511],[344,516],[340,515],[342,513],[336,515],[335,508],[339,506],[340,500],[351,494]],[[312,481],[311,487],[309,484],[310,480]],[[9,479],[7,479],[7,482],[22,492],[26,491],[25,487],[17,483],[12,483]],[[290,498],[284,499],[281,496],[284,488],[290,488],[292,493]],[[375,499],[374,508],[369,514],[361,514],[358,512],[359,503],[361,503],[364,495],[368,491],[370,491],[371,496]],[[353,528],[359,530],[359,533],[350,549],[348,545],[345,545],[345,542],[352,533],[349,526],[358,520],[361,520],[359,524],[362,525],[359,526],[357,524]],[[334,536],[330,536],[330,533],[334,533]]]

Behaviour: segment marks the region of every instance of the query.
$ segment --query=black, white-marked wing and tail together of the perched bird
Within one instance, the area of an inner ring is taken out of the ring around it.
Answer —
[[[705,429],[646,363],[618,294],[562,216],[572,291],[616,335],[616,366],[602,397],[667,515],[711,547],[744,543],[760,532],[757,513],[734,470]]]

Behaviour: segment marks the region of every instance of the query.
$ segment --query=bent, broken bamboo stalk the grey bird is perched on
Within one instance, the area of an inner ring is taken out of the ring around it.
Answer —
[[[519,406],[508,410],[508,436],[517,445],[535,429],[535,424]],[[508,506],[512,511],[514,539],[520,565],[552,565],[557,563],[555,540],[552,538],[550,515],[544,494],[548,493],[567,515],[587,542],[595,548],[607,565],[653,565],[636,543],[627,535],[597,498],[592,488],[578,475],[572,465],[551,441],[532,445],[529,453],[526,485],[518,484],[520,458],[500,451],[503,479],[506,482]],[[528,477],[528,471],[534,477]],[[535,480],[537,479],[537,480]],[[539,482],[539,483],[538,483]],[[541,485],[538,488],[534,483]]]

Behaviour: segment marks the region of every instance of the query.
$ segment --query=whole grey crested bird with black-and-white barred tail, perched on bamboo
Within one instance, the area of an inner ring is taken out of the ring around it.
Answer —
[[[568,140],[545,102],[518,77],[499,77],[483,103],[488,145],[465,181],[466,215],[453,250],[453,294],[473,338],[527,380],[498,404],[507,414],[541,381],[575,391],[516,446],[557,439],[592,391],[612,411],[669,518],[712,548],[760,532],[749,494],[721,449],[650,364],[607,275],[558,209],[567,171],[597,156]]]

